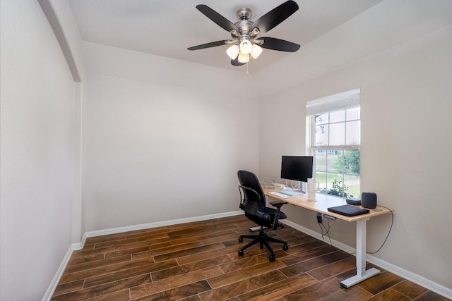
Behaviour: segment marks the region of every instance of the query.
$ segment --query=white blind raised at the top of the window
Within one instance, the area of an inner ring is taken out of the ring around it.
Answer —
[[[306,114],[320,115],[359,106],[361,89],[350,90],[306,103]]]

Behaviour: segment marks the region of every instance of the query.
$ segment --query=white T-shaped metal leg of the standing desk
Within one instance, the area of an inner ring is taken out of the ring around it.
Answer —
[[[361,281],[379,274],[375,268],[366,271],[366,225],[369,219],[360,219],[356,222],[356,275],[340,283],[343,288],[350,288]]]

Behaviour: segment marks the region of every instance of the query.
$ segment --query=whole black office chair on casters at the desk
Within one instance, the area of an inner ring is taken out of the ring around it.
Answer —
[[[287,242],[269,237],[263,232],[263,229],[265,227],[275,230],[278,226],[281,228],[284,227],[283,223],[279,223],[278,221],[280,219],[287,218],[287,216],[280,211],[283,204],[287,204],[287,202],[270,202],[270,204],[273,207],[276,207],[276,209],[266,207],[266,197],[263,194],[261,184],[259,183],[256,175],[249,171],[239,171],[237,176],[239,177],[240,183],[240,208],[245,211],[245,216],[249,220],[254,221],[254,223],[261,226],[261,230],[258,235],[240,235],[239,242],[243,242],[244,238],[251,238],[253,240],[239,250],[239,256],[243,256],[244,250],[251,247],[251,245],[259,243],[261,245],[261,249],[263,249],[264,245],[266,246],[270,252],[268,259],[270,262],[274,262],[275,252],[273,252],[273,249],[270,247],[268,242],[282,243],[283,250],[287,250],[289,247],[287,246]]]

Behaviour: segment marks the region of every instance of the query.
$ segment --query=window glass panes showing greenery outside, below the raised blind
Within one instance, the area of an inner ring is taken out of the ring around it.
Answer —
[[[359,197],[359,107],[323,113],[311,120],[314,138],[311,150],[319,192]]]

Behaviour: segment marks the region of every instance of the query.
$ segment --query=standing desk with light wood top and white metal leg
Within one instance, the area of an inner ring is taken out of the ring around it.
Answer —
[[[302,207],[305,209],[309,209],[312,211],[319,212],[321,214],[326,214],[328,216],[334,216],[336,219],[341,219],[343,221],[356,221],[356,272],[355,276],[352,276],[348,279],[345,279],[340,283],[343,288],[350,288],[350,286],[355,285],[361,281],[370,278],[376,274],[379,274],[379,269],[371,268],[366,270],[366,225],[367,221],[374,216],[379,216],[383,214],[388,214],[391,210],[385,207],[376,207],[375,209],[369,209],[370,213],[361,214],[357,216],[345,216],[341,214],[335,214],[331,211],[328,211],[328,207],[335,207],[347,204],[345,199],[340,197],[333,197],[331,195],[323,195],[316,193],[316,201],[309,201],[307,195],[297,195],[293,197],[287,197],[283,199],[276,195],[270,195],[269,192],[280,192],[280,190],[272,190],[268,188],[263,188],[263,192],[268,197],[273,197],[274,199],[278,199],[283,202],[287,202],[289,204],[293,204],[298,207]]]

